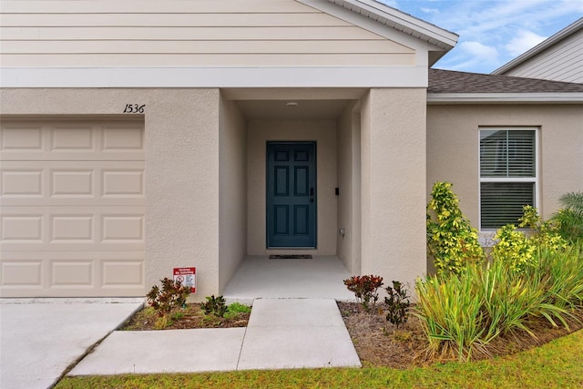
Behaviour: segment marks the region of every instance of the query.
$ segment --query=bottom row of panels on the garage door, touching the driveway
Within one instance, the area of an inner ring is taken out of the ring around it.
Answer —
[[[1,274],[4,297],[140,296],[144,294],[144,253],[7,251]]]

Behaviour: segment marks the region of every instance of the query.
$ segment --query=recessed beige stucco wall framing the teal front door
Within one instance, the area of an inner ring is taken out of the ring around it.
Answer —
[[[336,123],[334,120],[251,120],[247,132],[247,200],[249,255],[266,255],[265,152],[269,140],[316,142],[318,255],[336,253]],[[269,253],[280,251],[270,250]]]

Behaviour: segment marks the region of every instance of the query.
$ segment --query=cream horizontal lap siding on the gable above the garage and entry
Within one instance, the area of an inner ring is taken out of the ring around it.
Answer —
[[[3,67],[413,66],[414,50],[294,0],[5,1]]]

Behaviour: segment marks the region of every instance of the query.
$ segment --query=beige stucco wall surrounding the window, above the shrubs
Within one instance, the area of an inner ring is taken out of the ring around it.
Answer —
[[[540,129],[538,205],[544,218],[557,210],[562,194],[583,190],[581,105],[429,106],[427,195],[435,181],[452,182],[460,208],[474,227],[479,227],[478,128],[482,126]]]

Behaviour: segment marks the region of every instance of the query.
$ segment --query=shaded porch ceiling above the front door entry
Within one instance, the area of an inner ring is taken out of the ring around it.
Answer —
[[[247,119],[335,119],[350,100],[245,100],[237,104]]]

